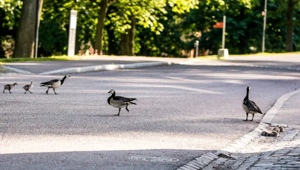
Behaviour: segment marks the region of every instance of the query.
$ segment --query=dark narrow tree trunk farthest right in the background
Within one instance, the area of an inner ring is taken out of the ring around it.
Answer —
[[[293,0],[287,2],[287,28],[286,28],[286,52],[292,52],[292,12],[293,12]]]

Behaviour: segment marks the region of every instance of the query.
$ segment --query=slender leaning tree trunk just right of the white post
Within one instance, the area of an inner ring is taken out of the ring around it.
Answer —
[[[97,49],[100,54],[102,53],[102,38],[104,32],[103,28],[104,28],[105,16],[106,16],[108,6],[109,6],[108,0],[101,1],[98,23],[97,23],[97,30],[96,30],[95,47],[94,47],[94,49]]]

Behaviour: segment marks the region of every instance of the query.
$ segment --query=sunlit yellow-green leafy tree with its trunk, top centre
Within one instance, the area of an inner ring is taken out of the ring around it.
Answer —
[[[140,37],[135,34],[143,33],[142,28],[146,32],[160,35],[164,29],[162,22],[168,19],[167,10],[182,14],[196,7],[197,3],[197,0],[119,0],[114,3],[116,10],[109,13],[109,22],[113,23],[115,34],[120,34],[121,54],[134,55],[139,52],[134,45],[135,39],[140,40]]]

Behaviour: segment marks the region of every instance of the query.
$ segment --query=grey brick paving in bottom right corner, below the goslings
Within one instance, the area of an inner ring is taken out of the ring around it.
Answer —
[[[300,129],[285,130],[279,137],[258,136],[227,158],[218,158],[201,169],[300,170]]]

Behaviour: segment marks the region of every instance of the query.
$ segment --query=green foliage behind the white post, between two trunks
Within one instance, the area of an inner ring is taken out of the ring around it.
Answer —
[[[39,29],[39,53],[66,54],[70,10],[77,10],[76,47],[94,43],[99,0],[44,0]],[[75,52],[77,53],[77,51]]]

